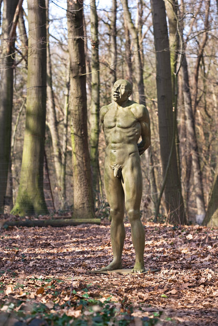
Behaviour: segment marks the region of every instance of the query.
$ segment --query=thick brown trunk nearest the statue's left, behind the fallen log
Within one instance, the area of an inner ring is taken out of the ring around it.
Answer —
[[[83,2],[67,0],[70,61],[72,161],[74,167],[74,218],[93,218],[94,198],[87,139],[86,66]]]

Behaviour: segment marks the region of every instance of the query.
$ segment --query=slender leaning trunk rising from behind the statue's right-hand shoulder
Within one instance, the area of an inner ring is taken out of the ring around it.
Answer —
[[[127,22],[128,29],[132,36],[132,42],[134,46],[134,59],[135,59],[135,75],[133,79],[136,81],[137,91],[134,95],[134,99],[136,102],[140,104],[146,105],[146,97],[144,95],[144,84],[143,84],[143,70],[141,65],[141,58],[140,58],[140,47],[138,41],[138,33],[137,30],[132,22],[131,13],[128,8],[128,0],[122,0],[122,5],[124,9],[124,15]]]

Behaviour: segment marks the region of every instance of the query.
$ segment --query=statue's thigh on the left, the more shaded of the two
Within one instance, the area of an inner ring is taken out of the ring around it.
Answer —
[[[124,208],[124,189],[120,178],[115,178],[111,167],[105,167],[105,195],[111,209]]]

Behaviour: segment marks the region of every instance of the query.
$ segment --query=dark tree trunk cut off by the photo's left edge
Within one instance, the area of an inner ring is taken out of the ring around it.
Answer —
[[[13,71],[15,33],[13,18],[18,0],[5,0],[3,8],[1,42],[0,85],[0,212],[4,212],[8,167],[11,149],[11,123],[13,106]]]

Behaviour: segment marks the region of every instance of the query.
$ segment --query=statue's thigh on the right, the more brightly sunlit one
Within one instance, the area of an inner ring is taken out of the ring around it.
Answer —
[[[129,209],[140,209],[142,196],[142,174],[140,158],[130,158],[122,170],[125,206]]]

